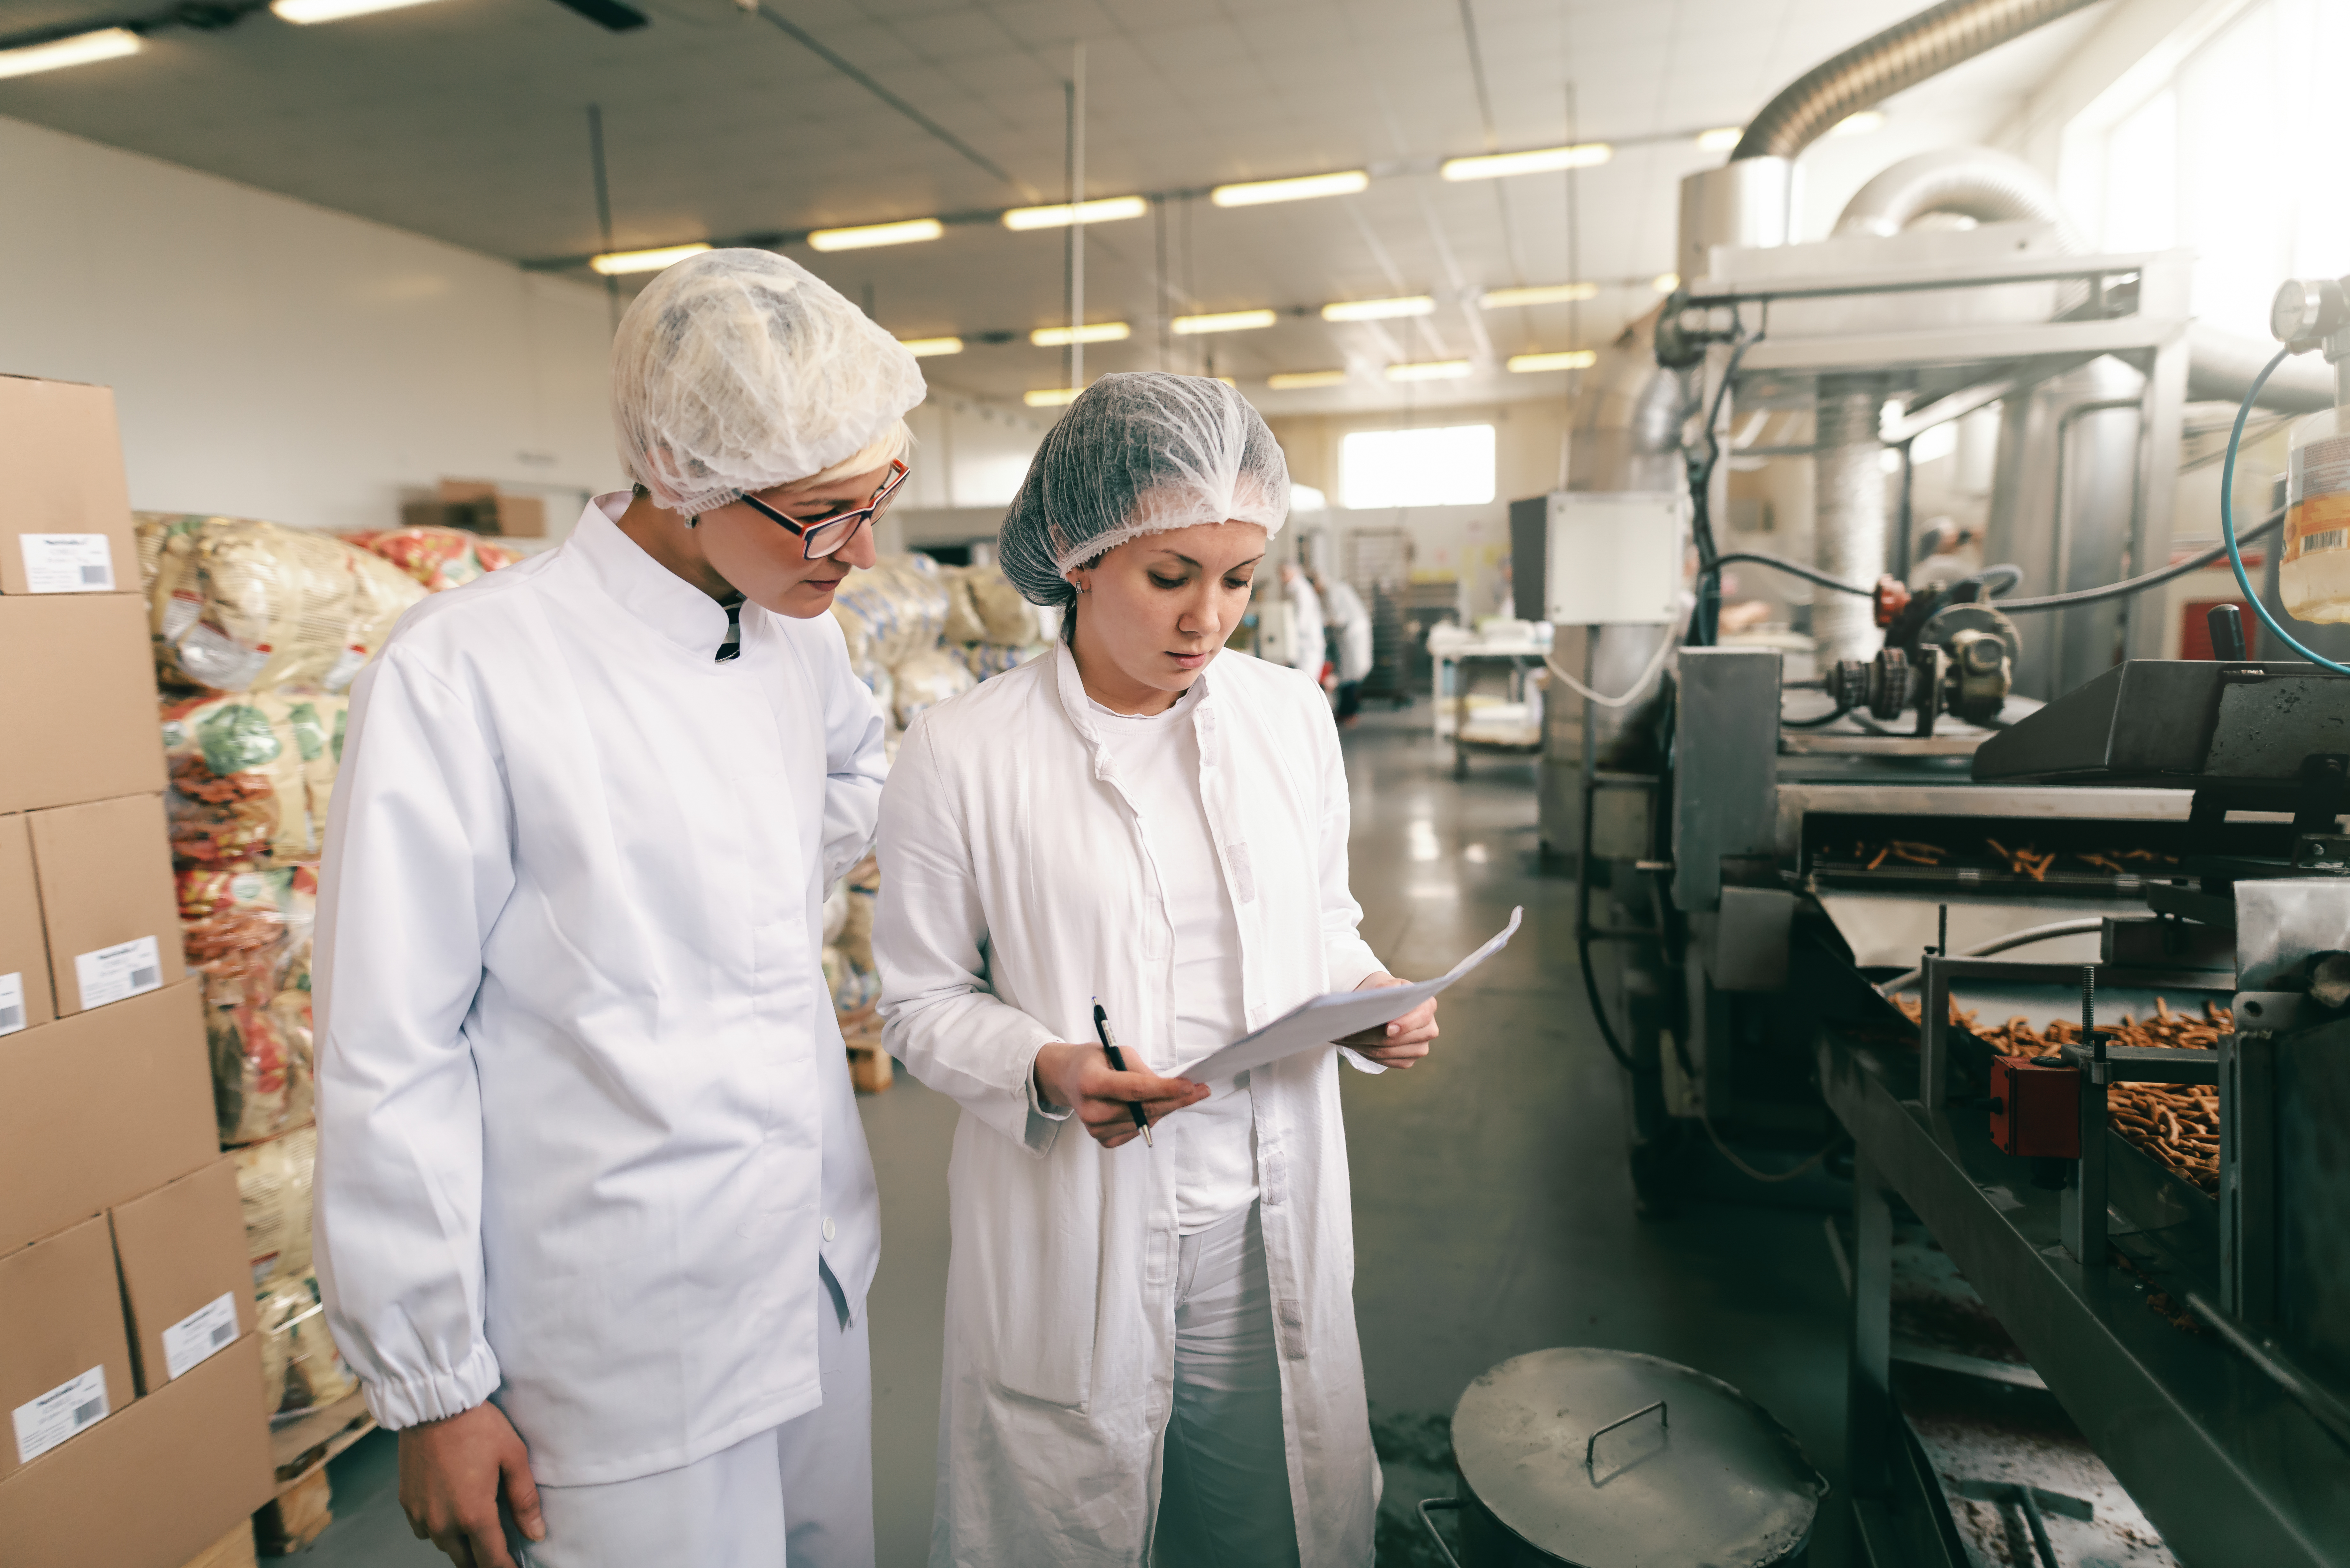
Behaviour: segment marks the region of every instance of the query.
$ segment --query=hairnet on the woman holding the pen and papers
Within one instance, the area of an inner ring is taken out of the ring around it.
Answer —
[[[1142,534],[1290,515],[1290,465],[1264,416],[1208,376],[1133,371],[1088,386],[1029,458],[996,555],[1032,604],[1072,604],[1062,574]]]

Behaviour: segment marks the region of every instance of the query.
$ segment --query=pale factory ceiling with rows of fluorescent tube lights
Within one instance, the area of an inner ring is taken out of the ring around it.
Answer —
[[[139,56],[0,82],[0,113],[515,261],[604,249],[588,106],[604,120],[613,244],[877,223],[1065,200],[1065,82],[1086,42],[1086,193],[1361,169],[1361,195],[1217,209],[1175,197],[1086,230],[1086,317],[1126,320],[1086,371],[1234,376],[1267,411],[1563,393],[1497,357],[1612,339],[1654,303],[1697,129],[1918,0],[634,0],[606,33],[552,0],[437,0],[324,26],[258,12],[155,33]],[[134,0],[136,5],[136,0]],[[0,0],[0,35],[113,21],[103,0]],[[1875,136],[1805,158],[1814,188],[1983,136],[2101,21],[1998,49],[1894,99]],[[799,38],[794,35],[799,33]],[[830,63],[801,38],[846,63]],[[900,106],[884,101],[858,73]],[[907,113],[912,110],[912,113]],[[928,120],[931,127],[916,122]],[[1610,141],[1574,176],[1448,183],[1438,158]],[[982,167],[987,165],[987,167]],[[1835,197],[1842,200],[1840,195]],[[1067,320],[1065,230],[949,226],[926,244],[787,244],[898,336],[1022,334],[926,360],[933,386],[1018,397],[1065,381],[1027,329]],[[578,273],[588,277],[585,270]],[[1582,306],[1480,310],[1506,284],[1598,280]],[[1168,313],[1434,294],[1417,320],[1163,339]],[[1469,381],[1389,383],[1469,357]],[[1264,393],[1283,369],[1344,388]]]

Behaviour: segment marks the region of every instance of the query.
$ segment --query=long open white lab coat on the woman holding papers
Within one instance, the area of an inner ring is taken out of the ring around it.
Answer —
[[[1379,959],[1347,891],[1321,691],[1234,651],[1201,679],[1201,797],[1260,1027]],[[1046,1117],[1032,1070],[1039,1046],[1093,1039],[1095,997],[1126,1051],[1173,1065],[1173,912],[1067,649],[914,722],[881,802],[874,952],[891,1053],[964,1105],[931,1561],[1140,1563],[1173,1396],[1175,1173]],[[1370,1563],[1379,1495],[1337,1058],[1250,1074],[1304,1568]]]

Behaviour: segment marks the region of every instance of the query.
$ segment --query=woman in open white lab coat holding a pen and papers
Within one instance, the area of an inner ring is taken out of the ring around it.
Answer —
[[[1323,693],[1224,649],[1288,489],[1231,388],[1095,381],[1001,534],[1062,646],[926,710],[881,799],[886,1041],[964,1107],[935,1568],[1370,1563],[1340,1051],[1166,1077],[1398,983],[1356,933]],[[1429,1001],[1347,1056],[1434,1037]]]

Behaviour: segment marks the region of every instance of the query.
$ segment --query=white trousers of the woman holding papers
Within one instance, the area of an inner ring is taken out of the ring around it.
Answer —
[[[1297,1568],[1257,1206],[1182,1239],[1154,1568]]]

